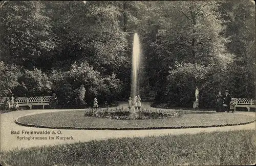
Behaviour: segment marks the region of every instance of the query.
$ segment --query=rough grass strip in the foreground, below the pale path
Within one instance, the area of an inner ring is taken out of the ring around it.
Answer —
[[[248,165],[255,131],[109,139],[1,152],[11,165]]]

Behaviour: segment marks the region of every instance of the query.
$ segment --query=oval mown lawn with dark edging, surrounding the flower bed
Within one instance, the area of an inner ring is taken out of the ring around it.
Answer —
[[[92,128],[132,128],[132,127],[170,127],[233,124],[253,121],[255,118],[232,114],[196,114],[184,112],[181,118],[147,120],[116,120],[107,118],[84,117],[84,110],[61,111],[21,117],[18,122],[51,127],[92,127]]]

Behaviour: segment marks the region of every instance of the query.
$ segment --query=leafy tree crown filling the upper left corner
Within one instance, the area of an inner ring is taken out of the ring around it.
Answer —
[[[49,18],[40,1],[10,1],[0,11],[1,60],[32,69],[42,52],[54,48]]]

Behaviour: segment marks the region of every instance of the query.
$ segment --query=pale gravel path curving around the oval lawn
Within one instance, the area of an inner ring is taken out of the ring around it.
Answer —
[[[142,103],[145,107],[150,107],[148,103]],[[124,106],[121,104],[120,106]],[[67,110],[67,109],[66,109]],[[229,130],[244,130],[251,129],[255,130],[255,122],[247,125],[240,126],[227,126],[227,127],[212,127],[212,128],[188,128],[188,129],[161,129],[161,130],[58,130],[58,129],[43,129],[43,128],[33,128],[33,127],[24,127],[19,126],[14,123],[15,119],[20,116],[25,116],[29,114],[40,114],[48,112],[58,112],[62,110],[56,109],[32,109],[32,110],[23,110],[10,112],[0,115],[0,150],[6,151],[14,148],[29,148],[34,146],[43,146],[43,145],[55,145],[55,144],[65,144],[65,143],[75,143],[75,142],[87,142],[91,140],[104,140],[109,138],[118,138],[118,137],[135,137],[135,136],[158,136],[163,134],[183,134],[183,133],[199,133],[199,132],[213,132],[213,131],[229,131]],[[223,113],[231,114],[231,113]],[[234,114],[243,114],[256,117],[254,112],[236,112]],[[22,131],[50,131],[50,134],[44,135],[34,135],[34,134],[22,134]],[[19,131],[19,134],[11,134],[11,131]],[[52,132],[56,134],[53,134]],[[57,132],[60,131],[60,134]],[[19,137],[38,137],[43,136],[47,137],[47,140],[18,140]],[[49,136],[54,137],[54,140],[49,140]],[[73,137],[73,140],[57,140],[56,137]]]

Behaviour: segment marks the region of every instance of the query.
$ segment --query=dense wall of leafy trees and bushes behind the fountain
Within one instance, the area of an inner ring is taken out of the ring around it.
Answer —
[[[250,1],[1,2],[1,96],[49,95],[81,107],[127,99],[132,41],[142,48],[141,94],[188,106],[200,88],[254,97],[255,6]]]

